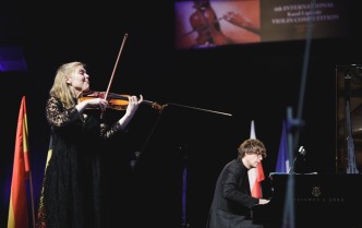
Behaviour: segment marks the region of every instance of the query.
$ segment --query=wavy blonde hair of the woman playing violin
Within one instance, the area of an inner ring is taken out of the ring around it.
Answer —
[[[67,77],[74,73],[77,67],[85,67],[85,64],[74,61],[60,65],[57,70],[55,83],[49,92],[49,95],[59,98],[65,108],[71,108],[76,105],[76,99],[74,99],[76,97],[74,97],[73,92],[67,84]]]

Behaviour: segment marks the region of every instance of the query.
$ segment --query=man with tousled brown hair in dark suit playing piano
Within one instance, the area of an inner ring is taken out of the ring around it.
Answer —
[[[245,140],[238,148],[238,157],[221,170],[215,188],[206,228],[263,228],[253,225],[251,209],[269,200],[251,196],[248,171],[266,157],[260,140]]]

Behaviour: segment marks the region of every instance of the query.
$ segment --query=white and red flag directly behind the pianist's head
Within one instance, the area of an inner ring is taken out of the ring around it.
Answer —
[[[250,139],[256,139],[254,120],[252,120]],[[251,190],[252,196],[262,197],[263,191],[262,191],[261,182],[265,179],[262,163],[260,163],[255,169],[249,170],[248,176],[249,176],[250,190]]]

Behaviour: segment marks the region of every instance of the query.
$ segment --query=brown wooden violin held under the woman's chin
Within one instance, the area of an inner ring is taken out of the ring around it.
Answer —
[[[129,105],[130,96],[131,95],[108,93],[108,96],[107,96],[108,107],[107,108],[114,109],[114,110],[125,110]],[[83,101],[83,100],[87,100],[87,99],[94,99],[94,98],[105,99],[106,92],[89,91],[89,92],[83,93],[79,98],[79,103]],[[164,108],[164,106],[161,106],[155,101],[150,101],[150,100],[143,100],[142,104],[149,105],[152,108],[154,108],[158,111],[161,111]]]

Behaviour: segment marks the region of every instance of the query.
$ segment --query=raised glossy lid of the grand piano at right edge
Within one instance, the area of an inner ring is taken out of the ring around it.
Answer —
[[[362,64],[337,65],[336,83],[336,171],[347,172],[347,167],[349,167],[351,160],[354,160],[349,154],[351,145],[347,144],[347,139],[352,139],[355,166],[361,171]],[[349,119],[346,118],[347,100],[349,101]],[[351,130],[351,136],[349,135],[349,129]]]

